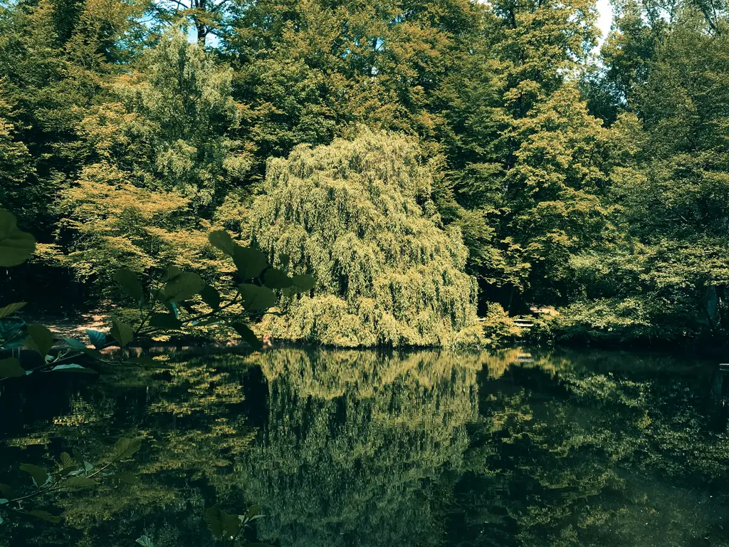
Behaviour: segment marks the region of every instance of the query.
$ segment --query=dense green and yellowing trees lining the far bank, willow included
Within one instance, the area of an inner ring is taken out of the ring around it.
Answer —
[[[224,228],[319,274],[284,337],[432,344],[477,305],[725,339],[724,0],[616,0],[599,50],[590,0],[190,1],[0,3],[0,206],[48,306],[121,266],[214,279]]]

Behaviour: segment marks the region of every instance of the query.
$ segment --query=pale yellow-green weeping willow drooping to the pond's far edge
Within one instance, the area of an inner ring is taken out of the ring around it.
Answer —
[[[442,228],[431,186],[416,144],[393,133],[270,160],[255,236],[274,264],[316,278],[270,333],[336,346],[479,341],[468,251]]]

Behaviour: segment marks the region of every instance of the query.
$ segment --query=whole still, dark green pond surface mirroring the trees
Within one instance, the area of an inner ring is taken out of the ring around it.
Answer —
[[[0,546],[214,545],[214,503],[280,547],[729,546],[729,373],[623,352],[313,351],[167,357],[0,395],[0,483],[62,451],[104,482],[2,513]],[[242,542],[241,542],[242,544]]]

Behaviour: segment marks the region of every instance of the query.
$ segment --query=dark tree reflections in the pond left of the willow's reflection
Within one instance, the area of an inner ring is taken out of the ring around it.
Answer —
[[[12,411],[39,411],[30,434],[3,432],[0,482],[25,481],[17,471],[21,462],[52,468],[64,450],[77,449],[96,461],[121,436],[144,438],[141,451],[125,464],[141,482],[42,500],[42,508],[63,511],[63,523],[14,518],[2,530],[12,539],[7,545],[122,547],[147,533],[157,547],[213,546],[202,521],[205,508],[214,501],[246,508],[232,479],[235,459],[254,438],[242,408],[246,370],[240,355],[178,354],[162,373],[107,373],[91,384],[71,379],[66,400],[46,408],[46,389],[59,386],[31,389],[23,395],[30,397],[23,400],[28,408]]]

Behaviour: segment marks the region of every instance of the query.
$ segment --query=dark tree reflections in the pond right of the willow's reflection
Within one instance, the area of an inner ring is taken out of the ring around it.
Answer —
[[[450,544],[729,546],[716,382],[715,367],[617,352],[483,378]]]

